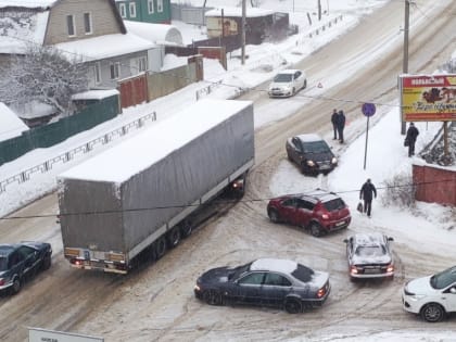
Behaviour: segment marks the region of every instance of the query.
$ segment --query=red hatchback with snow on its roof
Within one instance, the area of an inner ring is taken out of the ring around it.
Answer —
[[[273,223],[309,229],[315,237],[344,229],[352,220],[345,202],[334,192],[320,189],[275,198],[267,205],[267,215]]]

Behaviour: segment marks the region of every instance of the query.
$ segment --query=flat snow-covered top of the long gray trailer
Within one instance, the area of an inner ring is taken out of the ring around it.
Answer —
[[[157,122],[141,134],[71,168],[60,177],[121,183],[248,105],[251,105],[250,101],[213,99],[198,101],[186,110]],[[144,153],[144,147],[153,149],[148,149]]]

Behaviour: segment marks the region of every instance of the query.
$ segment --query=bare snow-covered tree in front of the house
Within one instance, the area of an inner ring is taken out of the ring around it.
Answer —
[[[46,103],[66,116],[72,94],[88,89],[88,66],[52,47],[28,46],[0,69],[0,101],[9,105]]]

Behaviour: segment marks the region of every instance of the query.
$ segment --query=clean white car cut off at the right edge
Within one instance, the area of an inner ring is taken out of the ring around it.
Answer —
[[[403,289],[402,303],[405,311],[421,315],[430,322],[456,312],[456,266],[408,281]]]

